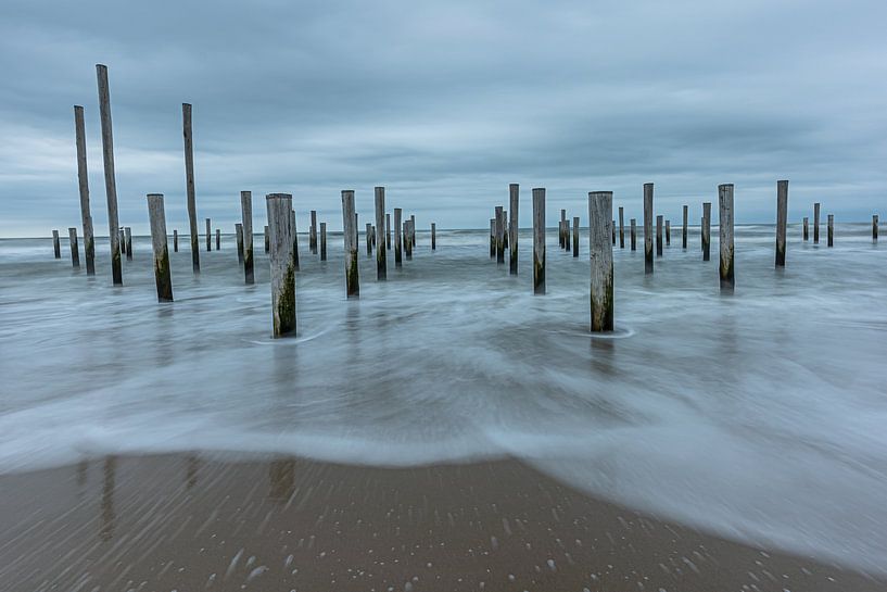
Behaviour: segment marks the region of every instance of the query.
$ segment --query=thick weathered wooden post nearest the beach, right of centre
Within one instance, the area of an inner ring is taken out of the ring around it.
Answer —
[[[612,214],[612,191],[593,191],[588,193],[592,332],[613,330]]]

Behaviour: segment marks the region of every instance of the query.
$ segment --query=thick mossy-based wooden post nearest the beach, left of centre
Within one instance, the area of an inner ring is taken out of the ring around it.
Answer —
[[[269,193],[265,197],[270,229],[271,318],[274,337],[295,332],[295,269],[292,259],[290,213],[292,196]]]

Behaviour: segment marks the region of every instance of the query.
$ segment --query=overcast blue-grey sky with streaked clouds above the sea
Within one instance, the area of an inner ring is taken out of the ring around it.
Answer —
[[[641,217],[645,181],[672,221],[734,182],[737,222],[773,222],[782,178],[790,222],[813,201],[884,217],[885,23],[884,0],[3,0],[0,236],[80,226],[74,104],[107,232],[97,63],[137,232],[150,192],[187,228],[182,102],[198,215],[225,231],[243,189],[262,219],[265,193],[291,192],[301,228],[309,209],[341,228],[340,191],[369,214],[376,185],[421,227],[485,227],[509,182],[524,226],[533,187],[549,221],[584,221],[592,190]]]

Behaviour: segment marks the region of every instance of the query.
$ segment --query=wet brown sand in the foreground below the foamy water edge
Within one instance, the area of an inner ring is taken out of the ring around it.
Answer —
[[[0,492],[9,591],[887,589],[594,500],[515,461],[105,457],[0,476]]]

